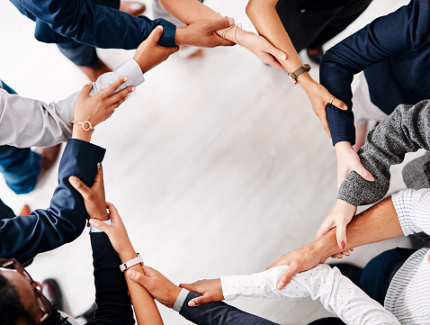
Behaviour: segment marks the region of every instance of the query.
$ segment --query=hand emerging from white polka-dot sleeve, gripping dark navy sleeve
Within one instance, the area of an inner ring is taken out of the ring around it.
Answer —
[[[193,284],[179,284],[179,287],[184,288],[194,293],[202,293],[200,297],[196,297],[188,302],[190,307],[200,306],[208,302],[220,302],[224,300],[220,279],[200,280]]]

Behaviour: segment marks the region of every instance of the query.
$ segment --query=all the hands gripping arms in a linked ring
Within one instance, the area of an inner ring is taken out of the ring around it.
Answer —
[[[228,28],[234,23],[232,19],[221,19],[213,22],[198,22],[192,23],[183,27],[182,32],[178,37],[186,40],[190,45],[215,47],[215,46],[232,46],[234,42],[222,39],[217,31]],[[143,41],[136,50],[133,59],[138,63],[142,73],[146,73],[151,68],[156,67],[161,62],[169,58],[170,55],[178,50],[178,47],[166,48],[158,45],[163,27],[157,26],[151,32],[146,41]],[[199,35],[196,37],[196,35]],[[287,59],[286,55],[273,47],[273,45],[260,35],[255,35],[252,32],[245,32],[245,37],[240,40],[240,44],[246,49],[252,51],[264,63],[271,65],[273,68],[284,69],[282,61]],[[115,110],[124,103],[128,98],[128,94],[133,92],[135,86],[127,86],[127,77],[121,77],[111,86],[101,91],[96,95],[91,95],[93,88],[92,84],[87,84],[83,87],[80,95],[78,95],[74,107],[74,119],[81,122],[90,122],[96,126],[100,122],[110,118]],[[333,104],[337,108],[347,110],[347,106],[332,96],[324,86],[313,81],[305,89],[312,104],[314,113],[320,119],[324,130],[330,137],[330,131],[327,122],[326,107],[328,104]],[[76,125],[74,125],[74,134]],[[81,131],[77,129],[78,131]],[[81,131],[82,132],[82,131]],[[374,178],[361,164],[358,154],[351,147],[349,142],[339,142],[336,144],[337,157],[337,179],[338,186],[342,184],[346,176],[355,171],[360,176],[368,181],[373,181]],[[69,178],[70,184],[82,194],[85,202],[85,208],[88,213],[89,223],[94,227],[103,230],[112,242],[113,248],[121,255],[121,251],[133,249],[127,230],[121,217],[112,203],[105,201],[104,186],[103,186],[103,168],[99,168],[95,178],[94,185],[90,188],[86,186],[76,176]],[[109,211],[109,213],[108,213]],[[336,228],[336,240],[338,246],[344,249],[342,253],[338,253],[333,257],[342,257],[349,255],[353,248],[346,248],[346,226],[353,219],[356,212],[356,207],[342,200],[337,200],[336,206],[330,212],[321,227],[318,230],[317,239],[321,238],[328,231]],[[103,221],[111,219],[111,225]],[[290,266],[278,282],[278,289],[282,289],[291,281],[295,274],[309,270],[319,263],[324,263],[327,257],[319,257],[316,254],[309,252],[306,247],[296,249],[288,254],[283,255],[267,268],[276,266]],[[164,303],[167,307],[172,307],[181,287],[193,292],[202,293],[202,296],[194,298],[189,302],[190,306],[199,306],[206,302],[218,302],[224,299],[222,288],[219,279],[202,280],[193,284],[180,284],[176,286],[170,282],[166,276],[159,273],[157,270],[142,266],[143,273],[129,270],[127,276],[130,279],[144,286],[159,302]]]

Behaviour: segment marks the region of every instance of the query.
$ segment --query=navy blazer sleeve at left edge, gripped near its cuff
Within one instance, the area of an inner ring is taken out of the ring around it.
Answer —
[[[58,186],[49,208],[0,220],[0,257],[31,257],[76,239],[85,229],[84,200],[68,182],[77,176],[91,186],[105,149],[70,139],[58,168]]]

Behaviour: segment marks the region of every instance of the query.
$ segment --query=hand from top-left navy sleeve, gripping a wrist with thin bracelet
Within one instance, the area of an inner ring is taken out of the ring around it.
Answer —
[[[218,21],[202,21],[176,29],[176,45],[193,45],[204,48],[216,46],[232,46],[233,41],[224,40],[217,31],[226,29],[234,23],[231,18],[222,18]]]

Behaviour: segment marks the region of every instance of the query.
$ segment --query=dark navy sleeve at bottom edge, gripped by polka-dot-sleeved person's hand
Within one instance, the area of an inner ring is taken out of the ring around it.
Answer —
[[[188,302],[202,294],[188,293],[179,313],[187,320],[199,325],[276,325],[273,321],[241,311],[224,302],[205,303],[198,307],[188,306]]]

